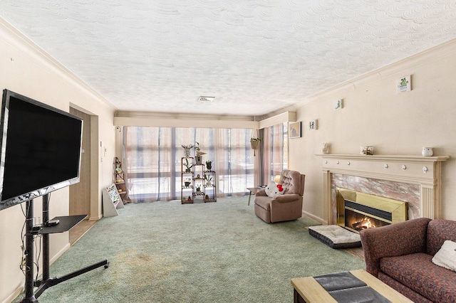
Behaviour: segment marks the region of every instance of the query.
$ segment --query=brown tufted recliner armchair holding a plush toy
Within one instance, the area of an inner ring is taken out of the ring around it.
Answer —
[[[279,184],[284,194],[271,198],[264,188],[255,194],[255,214],[266,223],[296,220],[302,216],[302,196],[306,176],[299,171],[284,169],[281,171]]]

